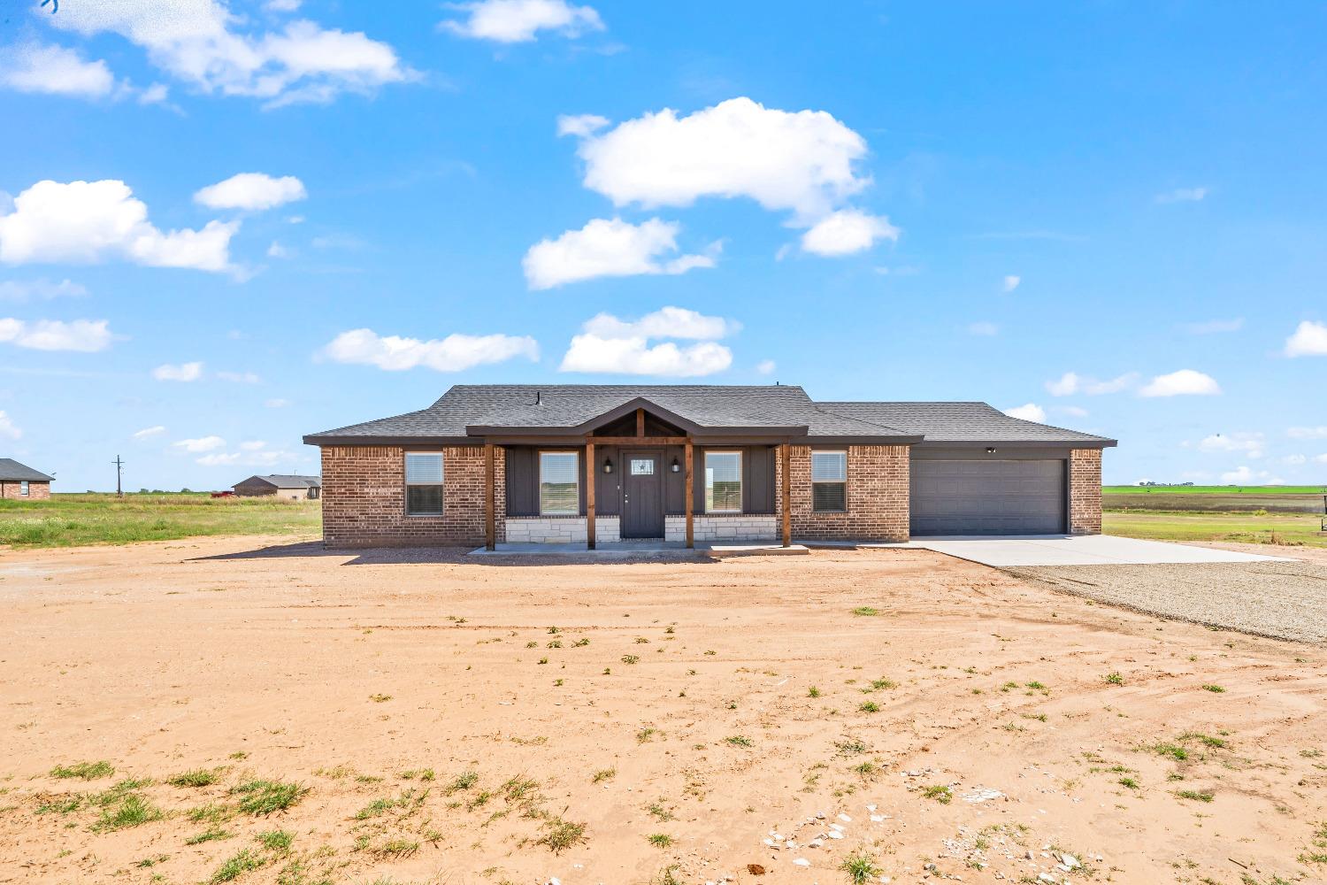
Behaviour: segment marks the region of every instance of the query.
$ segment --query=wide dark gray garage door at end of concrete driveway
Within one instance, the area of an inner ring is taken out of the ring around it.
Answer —
[[[913,460],[913,535],[1060,535],[1064,462]]]

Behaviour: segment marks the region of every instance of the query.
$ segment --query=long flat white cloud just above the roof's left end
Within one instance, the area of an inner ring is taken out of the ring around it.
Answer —
[[[384,337],[373,329],[353,329],[333,338],[321,354],[334,362],[377,366],[389,372],[415,366],[435,372],[460,372],[515,357],[535,362],[539,360],[539,345],[528,336],[454,333],[442,340],[421,341]]]

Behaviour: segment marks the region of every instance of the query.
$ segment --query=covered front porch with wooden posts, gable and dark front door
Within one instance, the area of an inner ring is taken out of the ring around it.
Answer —
[[[483,437],[488,553],[792,547],[804,426],[705,427],[638,398],[576,427],[467,433]]]

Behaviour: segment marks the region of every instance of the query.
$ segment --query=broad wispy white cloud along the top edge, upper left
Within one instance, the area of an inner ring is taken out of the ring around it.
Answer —
[[[299,19],[281,31],[244,33],[253,20],[223,0],[65,3],[45,20],[84,36],[118,33],[142,46],[153,65],[203,93],[260,98],[269,107],[370,94],[417,78],[391,46],[361,32]]]

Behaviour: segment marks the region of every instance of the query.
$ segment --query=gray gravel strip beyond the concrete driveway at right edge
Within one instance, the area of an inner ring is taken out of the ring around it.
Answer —
[[[1274,640],[1327,645],[1327,565],[1042,565],[1005,569],[1066,593]]]

